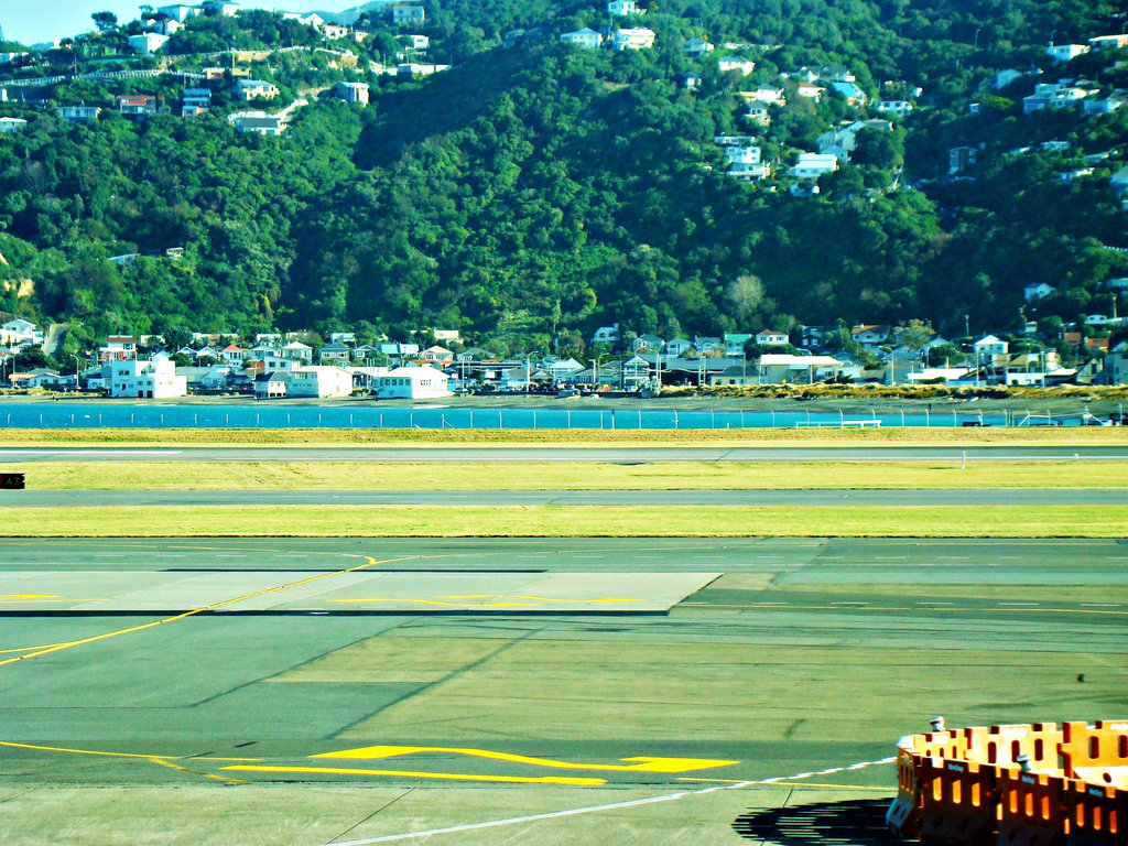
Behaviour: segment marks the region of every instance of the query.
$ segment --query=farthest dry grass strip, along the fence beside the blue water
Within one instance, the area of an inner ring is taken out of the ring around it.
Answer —
[[[1128,426],[1046,426],[1037,429],[7,429],[10,447],[125,444],[168,447],[379,447],[402,444],[558,444],[654,446],[661,443],[778,444],[814,447],[985,446],[985,444],[1128,444]]]

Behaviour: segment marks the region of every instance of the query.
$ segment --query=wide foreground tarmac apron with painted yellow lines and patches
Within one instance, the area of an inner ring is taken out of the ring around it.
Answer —
[[[113,830],[310,846],[794,774],[671,809],[735,844],[756,802],[888,795],[857,765],[935,713],[1128,713],[1126,566],[1122,540],[0,539],[0,801],[25,841],[65,785]]]

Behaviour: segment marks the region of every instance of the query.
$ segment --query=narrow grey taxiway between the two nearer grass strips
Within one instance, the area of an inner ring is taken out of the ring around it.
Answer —
[[[141,505],[1126,505],[1128,488],[734,491],[0,491],[0,508]]]

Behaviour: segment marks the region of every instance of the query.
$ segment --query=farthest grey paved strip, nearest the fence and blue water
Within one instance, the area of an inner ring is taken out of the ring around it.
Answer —
[[[28,461],[402,461],[613,462],[656,461],[1111,461],[1128,446],[990,447],[9,447],[0,466]]]

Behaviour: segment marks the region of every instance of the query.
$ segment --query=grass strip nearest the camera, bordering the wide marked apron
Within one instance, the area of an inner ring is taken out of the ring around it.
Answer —
[[[412,505],[10,508],[9,537],[1111,538],[1128,506]]]

